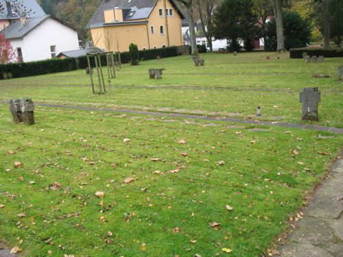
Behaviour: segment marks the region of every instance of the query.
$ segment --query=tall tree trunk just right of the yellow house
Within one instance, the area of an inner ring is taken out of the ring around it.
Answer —
[[[207,42],[209,42],[210,51],[213,50],[213,11],[217,2],[219,2],[219,0],[196,0],[196,7],[199,12],[202,30]]]

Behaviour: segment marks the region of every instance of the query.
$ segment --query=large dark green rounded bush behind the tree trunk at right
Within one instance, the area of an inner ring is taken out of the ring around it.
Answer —
[[[301,18],[298,12],[287,11],[283,13],[283,35],[285,36],[285,49],[305,47],[311,36],[309,21]],[[276,21],[273,19],[267,24],[265,33],[265,50],[276,51]]]

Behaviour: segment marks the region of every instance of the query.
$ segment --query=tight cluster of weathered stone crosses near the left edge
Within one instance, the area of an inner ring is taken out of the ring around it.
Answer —
[[[34,102],[32,99],[10,99],[9,107],[15,123],[24,122],[26,125],[34,125]]]

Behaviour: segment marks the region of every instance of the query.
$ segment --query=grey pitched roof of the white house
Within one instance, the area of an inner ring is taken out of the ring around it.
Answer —
[[[5,37],[10,38],[23,38],[26,34],[28,34],[32,29],[40,25],[40,23],[43,23],[43,21],[47,19],[55,19],[56,21],[59,21],[60,23],[67,25],[68,27],[71,27],[72,29],[76,30],[75,27],[69,25],[68,23],[64,23],[60,19],[51,16],[51,15],[45,15],[40,17],[34,17],[27,19],[25,25],[21,25],[21,21],[14,21],[8,27],[5,27],[1,30],[2,34],[5,34]],[[53,28],[51,28],[53,29]]]

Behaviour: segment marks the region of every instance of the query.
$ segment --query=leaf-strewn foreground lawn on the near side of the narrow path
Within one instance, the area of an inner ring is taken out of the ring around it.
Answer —
[[[15,125],[0,107],[0,238],[27,256],[259,256],[343,142],[50,108],[36,121]]]

